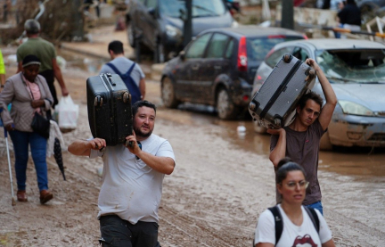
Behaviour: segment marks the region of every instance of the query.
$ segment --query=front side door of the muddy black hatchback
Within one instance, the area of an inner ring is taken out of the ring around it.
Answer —
[[[212,33],[207,33],[197,37],[187,47],[184,62],[181,62],[176,70],[176,94],[184,101],[194,101],[195,82],[199,79],[200,67],[203,62],[206,47]]]

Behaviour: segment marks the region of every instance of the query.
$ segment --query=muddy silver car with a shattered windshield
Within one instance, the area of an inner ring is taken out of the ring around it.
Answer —
[[[321,148],[385,146],[385,45],[356,39],[308,39],[275,45],[257,71],[253,94],[283,54],[315,59],[332,84],[338,104]],[[324,97],[318,79],[313,88]],[[258,133],[266,128],[255,123]]]

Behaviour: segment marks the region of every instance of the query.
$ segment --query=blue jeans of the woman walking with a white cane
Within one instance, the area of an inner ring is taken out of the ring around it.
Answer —
[[[9,132],[15,154],[15,171],[18,190],[26,189],[29,145],[37,172],[37,185],[40,191],[48,189],[47,165],[45,161],[46,139],[35,132],[13,130]]]

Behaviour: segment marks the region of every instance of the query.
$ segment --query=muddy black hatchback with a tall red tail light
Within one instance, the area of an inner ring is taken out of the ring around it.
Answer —
[[[213,105],[220,119],[234,119],[250,103],[254,75],[271,47],[303,38],[289,29],[257,26],[203,31],[162,71],[163,103]]]

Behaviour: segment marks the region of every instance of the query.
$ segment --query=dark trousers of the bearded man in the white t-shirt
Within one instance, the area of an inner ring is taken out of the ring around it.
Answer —
[[[155,222],[138,221],[133,225],[117,215],[102,216],[99,243],[103,247],[160,247],[158,227]]]

